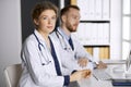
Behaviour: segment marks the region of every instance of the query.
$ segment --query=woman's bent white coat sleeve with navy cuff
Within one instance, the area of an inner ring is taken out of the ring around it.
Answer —
[[[35,85],[44,87],[62,87],[63,85],[69,84],[70,77],[57,76],[52,63],[41,65],[37,42],[31,40],[27,41],[22,51],[22,57],[25,61],[25,66],[29,73],[31,79]],[[44,62],[46,58],[41,59]]]

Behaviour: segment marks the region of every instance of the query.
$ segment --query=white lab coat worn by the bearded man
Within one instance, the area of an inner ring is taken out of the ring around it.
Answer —
[[[57,29],[59,32],[59,27]],[[61,52],[60,53],[61,62],[62,62],[62,67],[64,70],[67,70],[66,74],[71,74],[74,70],[85,70],[85,69],[93,70],[94,69],[95,64],[93,62],[95,62],[95,60],[93,60],[93,57],[86,52],[86,50],[79,42],[79,40],[76,39],[75,36],[71,35],[71,38],[73,40],[74,50],[71,49],[68,40],[66,39],[64,36],[62,36],[62,34],[60,32],[59,33],[53,32],[51,34],[51,36],[57,38],[57,40],[60,44],[59,46],[61,47],[61,51],[60,51]],[[67,47],[70,50],[64,50],[63,47]],[[88,62],[87,66],[81,67],[78,64],[78,59],[80,59],[80,58],[87,58],[92,62]]]

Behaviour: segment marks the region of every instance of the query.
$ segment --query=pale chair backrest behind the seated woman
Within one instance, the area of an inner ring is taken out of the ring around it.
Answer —
[[[16,87],[22,74],[21,64],[13,64],[4,69],[7,87]]]

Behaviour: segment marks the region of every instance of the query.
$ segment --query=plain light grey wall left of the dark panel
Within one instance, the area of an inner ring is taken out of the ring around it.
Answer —
[[[5,87],[4,67],[21,62],[20,51],[20,0],[0,0],[0,87]]]

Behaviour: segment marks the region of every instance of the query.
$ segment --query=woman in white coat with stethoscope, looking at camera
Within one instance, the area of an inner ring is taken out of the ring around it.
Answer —
[[[19,87],[63,87],[70,82],[80,80],[91,75],[90,70],[63,75],[59,55],[59,47],[49,34],[53,30],[58,10],[50,2],[35,5],[32,17],[36,26],[22,48],[23,73]]]

